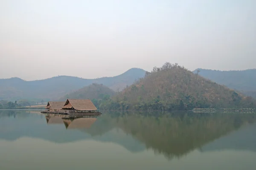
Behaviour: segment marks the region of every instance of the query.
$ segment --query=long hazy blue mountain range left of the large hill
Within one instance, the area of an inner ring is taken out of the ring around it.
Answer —
[[[74,90],[98,83],[114,91],[122,90],[136,79],[144,77],[145,71],[131,68],[115,77],[82,79],[79,77],[58,76],[49,79],[24,81],[20,78],[0,79],[0,99],[46,99],[56,100]]]

